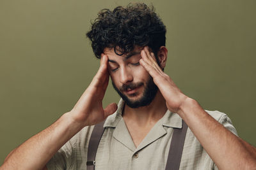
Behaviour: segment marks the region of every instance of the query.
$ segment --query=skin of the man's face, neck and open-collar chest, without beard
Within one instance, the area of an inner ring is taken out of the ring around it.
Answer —
[[[115,83],[118,89],[120,89],[122,85],[127,85],[129,83],[144,83],[144,86],[138,87],[134,92],[134,94],[137,94],[136,96],[123,92],[123,94],[131,101],[140,101],[143,97],[145,84],[150,75],[148,74],[148,71],[140,65],[141,50],[143,50],[143,48],[135,48],[134,51],[137,54],[129,59],[116,55],[111,48],[106,48],[106,50],[104,50],[104,53],[108,55],[108,58],[111,61],[109,62],[108,67],[111,80]],[[127,129],[131,134],[136,147],[140,145],[143,138],[145,138],[156,122],[163,117],[166,110],[165,100],[159,91],[152,103],[148,106],[130,108],[125,104],[122,117],[124,118]]]

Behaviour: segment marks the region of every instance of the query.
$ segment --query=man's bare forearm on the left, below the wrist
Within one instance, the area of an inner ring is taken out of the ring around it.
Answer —
[[[42,169],[61,146],[83,127],[65,113],[50,127],[28,139],[6,158],[0,169]]]

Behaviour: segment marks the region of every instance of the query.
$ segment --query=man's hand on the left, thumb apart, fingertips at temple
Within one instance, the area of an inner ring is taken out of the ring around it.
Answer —
[[[116,103],[109,104],[105,109],[102,107],[102,99],[108,87],[108,81],[108,55],[102,54],[97,74],[74,108],[70,111],[75,122],[81,124],[83,127],[94,125],[102,122],[106,117],[116,111]]]

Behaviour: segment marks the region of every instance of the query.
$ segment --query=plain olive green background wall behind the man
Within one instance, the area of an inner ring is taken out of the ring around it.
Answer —
[[[168,30],[166,73],[255,146],[256,1],[143,2]],[[0,164],[76,104],[99,67],[85,36],[90,20],[128,3],[0,0]],[[104,106],[118,99],[109,85]]]

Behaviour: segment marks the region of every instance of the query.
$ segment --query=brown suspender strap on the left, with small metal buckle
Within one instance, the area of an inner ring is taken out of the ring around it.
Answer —
[[[88,153],[87,153],[87,170],[94,170],[95,169],[95,157],[97,153],[97,149],[100,143],[100,139],[102,137],[102,134],[104,132],[104,122],[100,122],[99,124],[95,125],[92,131],[92,135],[89,141],[88,146]]]

